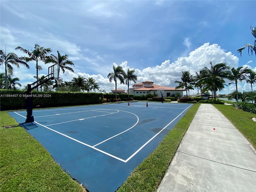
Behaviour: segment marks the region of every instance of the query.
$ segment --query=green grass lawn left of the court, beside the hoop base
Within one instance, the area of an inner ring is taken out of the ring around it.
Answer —
[[[85,192],[8,112],[0,112],[1,192]]]

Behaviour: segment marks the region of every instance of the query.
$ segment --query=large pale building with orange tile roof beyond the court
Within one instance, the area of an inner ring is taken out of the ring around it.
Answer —
[[[184,89],[176,89],[174,87],[167,87],[167,86],[161,86],[156,85],[152,81],[144,81],[142,83],[134,84],[132,88],[129,89],[130,94],[137,95],[146,95],[148,93],[150,94],[157,94],[159,97],[161,97],[161,93],[158,92],[159,90],[164,90],[163,97],[171,96],[172,94],[180,93],[183,96]],[[128,92],[128,91],[127,91]]]

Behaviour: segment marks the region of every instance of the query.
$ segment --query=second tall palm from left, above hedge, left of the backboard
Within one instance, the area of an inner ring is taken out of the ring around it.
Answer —
[[[31,51],[24,49],[20,46],[16,47],[15,50],[20,50],[28,55],[28,57],[21,57],[22,60],[26,60],[26,62],[36,61],[36,80],[38,81],[38,70],[42,69],[42,66],[38,65],[38,61],[46,62],[46,60],[49,58],[47,54],[52,52],[52,50],[50,48],[41,47],[38,44],[35,44],[34,50]],[[36,90],[38,90],[38,87],[36,88]]]

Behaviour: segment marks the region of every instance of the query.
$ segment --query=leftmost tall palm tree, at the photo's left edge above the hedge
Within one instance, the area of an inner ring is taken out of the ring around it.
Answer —
[[[20,68],[20,64],[26,66],[29,69],[29,65],[22,60],[22,58],[18,58],[15,53],[4,53],[3,50],[0,50],[0,66],[4,64],[5,66],[5,88],[7,89],[7,78],[8,74],[13,75],[14,69],[12,65],[15,65],[17,68]]]

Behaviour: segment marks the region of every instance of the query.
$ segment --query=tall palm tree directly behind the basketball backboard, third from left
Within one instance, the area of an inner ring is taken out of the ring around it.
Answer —
[[[46,63],[58,64],[57,77],[60,77],[60,70],[62,70],[63,73],[65,72],[65,70],[69,70],[74,73],[74,70],[71,67],[67,66],[67,65],[74,66],[74,63],[68,60],[68,55],[67,54],[61,55],[59,51],[57,51],[57,53],[58,53],[58,56],[51,54],[48,60],[46,61]],[[58,90],[59,89],[60,89],[60,85],[58,84]]]

